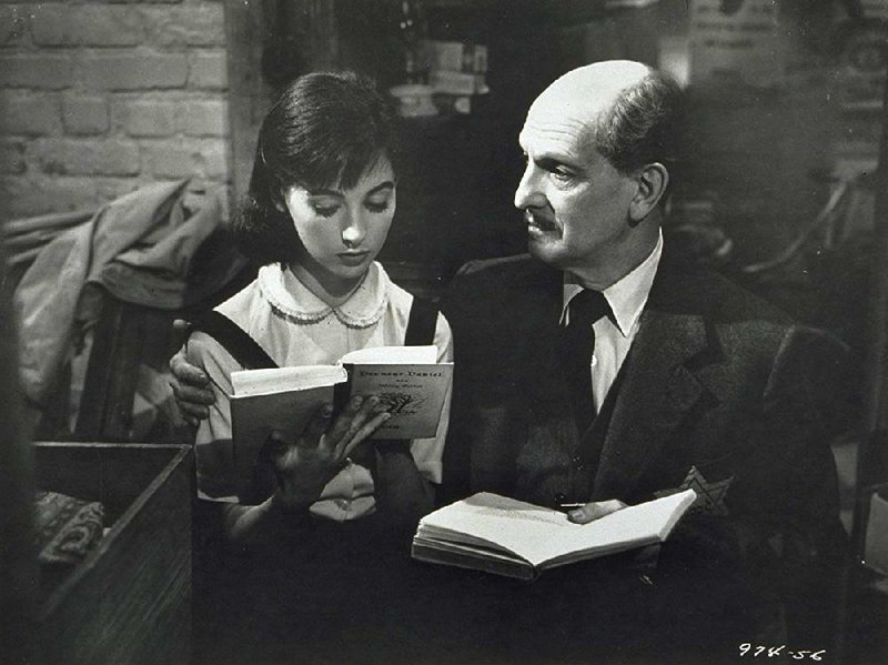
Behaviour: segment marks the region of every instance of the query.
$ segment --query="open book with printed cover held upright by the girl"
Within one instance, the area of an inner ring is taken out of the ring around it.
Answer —
[[[231,425],[238,482],[252,477],[272,430],[295,439],[323,404],[376,395],[392,414],[373,439],[426,439],[437,432],[453,363],[437,346],[380,346],[347,353],[335,365],[302,365],[231,373]]]

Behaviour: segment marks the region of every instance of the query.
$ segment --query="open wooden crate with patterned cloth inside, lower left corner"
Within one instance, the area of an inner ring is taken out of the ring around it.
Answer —
[[[191,446],[36,443],[36,486],[100,501],[110,527],[61,578],[41,580],[47,665],[185,664],[191,654]]]

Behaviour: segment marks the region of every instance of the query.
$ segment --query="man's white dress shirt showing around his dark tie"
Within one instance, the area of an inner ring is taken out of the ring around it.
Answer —
[[[614,321],[609,316],[604,316],[593,325],[595,351],[589,372],[592,372],[592,395],[596,412],[601,411],[602,404],[607,397],[607,391],[614,384],[619,367],[623,366],[623,361],[626,360],[629,346],[638,332],[638,321],[647,302],[647,295],[650,293],[650,285],[654,283],[654,275],[657,272],[662,254],[663,233],[657,238],[657,244],[654,245],[654,250],[647,259],[626,276],[604,290],[604,296],[614,313]],[[567,303],[581,291],[583,291],[583,286],[565,273],[562,325],[567,324]]]

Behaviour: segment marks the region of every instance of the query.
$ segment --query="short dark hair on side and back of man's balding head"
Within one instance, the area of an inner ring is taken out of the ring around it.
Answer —
[[[602,114],[595,148],[620,173],[653,162],[663,163],[672,173],[678,161],[683,101],[682,89],[672,77],[650,70]]]

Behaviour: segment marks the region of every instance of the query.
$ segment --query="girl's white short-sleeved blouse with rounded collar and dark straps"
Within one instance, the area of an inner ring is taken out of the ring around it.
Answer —
[[[394,284],[379,263],[352,296],[332,308],[280,264],[260,269],[256,279],[216,308],[252,336],[280,366],[333,364],[350,351],[404,343],[413,296]],[[453,360],[447,321],[438,314],[434,343],[438,362]],[[195,444],[198,491],[204,498],[236,502],[229,395],[231,372],[243,367],[213,337],[195,332],[188,359],[212,380],[215,404],[201,422]],[[441,457],[447,433],[450,391],[434,439],[414,440],[411,453],[420,473],[441,482]],[[346,521],[375,508],[373,478],[359,464],[346,466],[324,487],[311,511]]]

